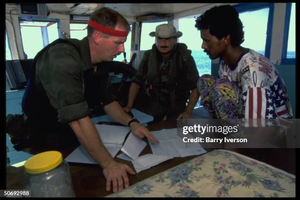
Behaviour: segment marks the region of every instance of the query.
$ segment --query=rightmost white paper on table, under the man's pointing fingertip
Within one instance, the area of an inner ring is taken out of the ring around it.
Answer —
[[[182,138],[177,136],[176,128],[162,129],[151,133],[159,141],[159,144],[156,144],[148,139],[152,153],[155,155],[185,157],[206,152],[199,143],[183,142]]]

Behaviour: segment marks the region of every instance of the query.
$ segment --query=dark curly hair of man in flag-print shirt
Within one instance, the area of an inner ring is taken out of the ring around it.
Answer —
[[[196,19],[196,28],[208,29],[219,40],[230,35],[231,45],[240,46],[244,42],[243,24],[239,13],[230,5],[215,6]]]

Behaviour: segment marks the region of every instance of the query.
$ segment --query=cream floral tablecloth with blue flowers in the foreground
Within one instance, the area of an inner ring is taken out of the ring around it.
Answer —
[[[107,197],[295,197],[296,176],[214,150]]]

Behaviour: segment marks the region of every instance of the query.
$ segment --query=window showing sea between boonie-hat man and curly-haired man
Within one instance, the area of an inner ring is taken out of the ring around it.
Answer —
[[[201,49],[202,39],[200,38],[200,31],[195,27],[195,18],[187,17],[178,20],[179,30],[182,36],[178,42],[184,43],[192,50],[192,56],[196,62],[199,75],[211,74],[211,59]]]

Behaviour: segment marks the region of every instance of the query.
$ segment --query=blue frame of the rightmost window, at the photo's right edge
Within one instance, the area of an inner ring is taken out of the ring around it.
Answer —
[[[288,46],[288,39],[289,39],[291,13],[292,13],[292,2],[288,2],[286,3],[286,7],[285,7],[285,19],[284,19],[284,29],[283,29],[283,42],[282,42],[283,44],[282,44],[282,54],[281,54],[282,65],[296,64],[296,58],[287,58],[287,46]]]

